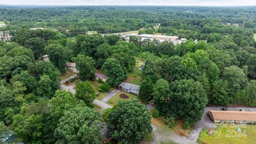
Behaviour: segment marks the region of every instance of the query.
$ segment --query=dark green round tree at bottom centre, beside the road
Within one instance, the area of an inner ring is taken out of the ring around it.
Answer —
[[[138,143],[151,131],[150,114],[138,100],[119,101],[108,114],[110,135],[122,143]]]

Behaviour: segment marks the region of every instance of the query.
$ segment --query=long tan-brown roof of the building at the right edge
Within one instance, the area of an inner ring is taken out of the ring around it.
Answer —
[[[209,110],[214,120],[256,121],[256,111]]]

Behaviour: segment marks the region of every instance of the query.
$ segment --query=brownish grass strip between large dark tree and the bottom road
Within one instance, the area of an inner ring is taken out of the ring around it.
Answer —
[[[182,128],[183,126],[183,122],[179,121],[179,120],[175,120],[174,126],[172,128],[167,127],[166,123],[165,123],[165,119],[161,116],[155,118],[153,116],[151,116],[151,123],[160,127],[165,128],[166,130],[172,131],[176,134],[182,135],[184,137],[188,137],[188,135],[190,134],[190,132],[192,131],[193,127],[189,127],[189,129],[184,130]]]

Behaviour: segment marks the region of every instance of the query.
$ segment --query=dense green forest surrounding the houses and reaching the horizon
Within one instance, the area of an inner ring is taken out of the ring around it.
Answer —
[[[150,101],[189,125],[209,104],[256,107],[256,7],[1,6],[0,13],[7,24],[0,30],[12,36],[0,41],[0,133],[11,129],[17,141],[101,143],[106,122],[118,142],[138,143],[152,131],[144,106]],[[45,29],[30,29],[37,27]],[[84,34],[92,30],[98,34]],[[130,30],[188,41],[101,35]],[[139,100],[101,116],[92,105],[95,68],[109,77],[104,86],[116,87],[133,72],[135,57],[146,60]],[[67,62],[79,70],[75,94],[60,90]],[[118,121],[127,117],[139,122]]]

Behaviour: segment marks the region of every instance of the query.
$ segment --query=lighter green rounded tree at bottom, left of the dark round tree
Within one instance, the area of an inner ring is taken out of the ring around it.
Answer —
[[[64,111],[54,135],[56,143],[102,143],[102,120],[98,111],[77,105]]]

